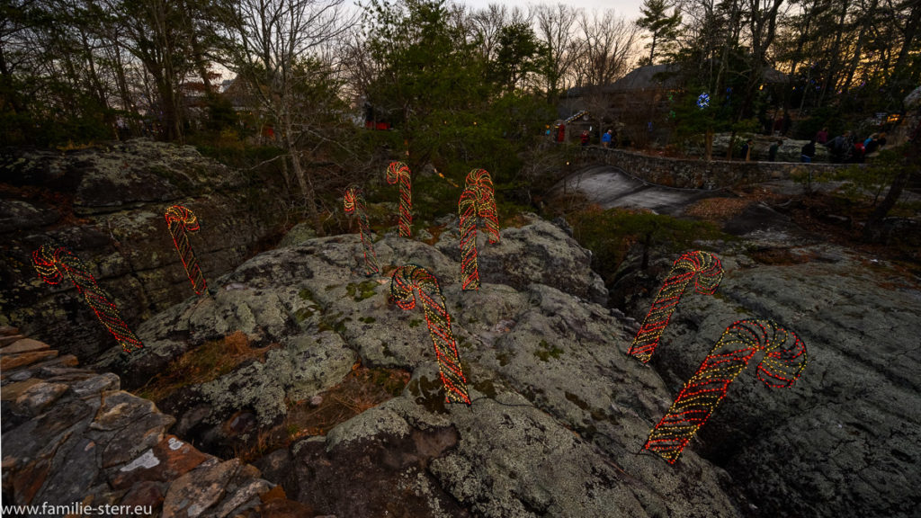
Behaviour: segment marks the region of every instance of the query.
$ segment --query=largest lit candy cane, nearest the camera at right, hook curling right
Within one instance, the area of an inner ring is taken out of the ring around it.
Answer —
[[[760,350],[764,350],[764,359],[758,364],[758,379],[771,388],[792,385],[806,368],[806,344],[796,333],[770,320],[743,320],[729,325],[669,412],[649,433],[643,448],[674,464],[726,396],[729,383]]]

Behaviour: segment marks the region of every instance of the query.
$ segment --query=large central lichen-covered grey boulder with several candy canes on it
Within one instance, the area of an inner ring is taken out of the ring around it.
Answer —
[[[445,234],[446,242],[453,239]],[[266,477],[318,512],[740,515],[723,489],[725,472],[693,451],[679,469],[639,454],[670,394],[654,371],[624,355],[629,321],[581,298],[597,277],[557,282],[562,277],[521,268],[524,258],[490,257],[537,253],[554,241],[550,256],[532,261],[572,272],[586,251],[536,218],[503,230],[502,240],[493,246],[483,239],[481,265],[499,269],[483,268],[476,292],[461,292],[460,265],[439,246],[391,235],[375,243],[385,271],[414,263],[441,279],[470,381],[469,409],[445,404],[421,308],[404,312],[392,303],[388,277],[356,274],[356,235],[254,257],[222,277],[213,298],[186,301],[143,324],[140,354],[113,351],[99,367],[140,384],[169,359],[232,330],[277,343],[264,363],[186,387],[165,403],[202,441],[241,413],[256,415],[262,426],[278,422],[286,402],[321,394],[355,359],[413,371],[402,394],[266,461]],[[514,279],[515,286],[495,279]],[[356,481],[358,493],[349,489]]]

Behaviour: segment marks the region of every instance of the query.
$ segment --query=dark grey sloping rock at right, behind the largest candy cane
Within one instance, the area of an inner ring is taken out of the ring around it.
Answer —
[[[757,516],[915,515],[921,294],[872,257],[814,244],[780,252],[786,264],[721,255],[716,296],[682,299],[651,364],[677,394],[723,330],[749,318],[797,333],[809,364],[775,390],[749,365],[691,447],[729,471]]]

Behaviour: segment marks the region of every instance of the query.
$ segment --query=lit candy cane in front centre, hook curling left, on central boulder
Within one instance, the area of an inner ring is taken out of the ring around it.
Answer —
[[[435,345],[441,383],[445,385],[446,400],[449,403],[470,406],[467,379],[461,371],[461,355],[458,354],[458,347],[451,333],[451,317],[445,307],[441,289],[438,288],[437,278],[422,266],[400,266],[393,272],[391,295],[403,310],[412,310],[416,300],[422,302],[426,312],[428,334]]]

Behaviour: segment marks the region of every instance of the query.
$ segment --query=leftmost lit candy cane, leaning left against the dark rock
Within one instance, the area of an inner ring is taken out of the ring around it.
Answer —
[[[109,294],[99,287],[96,278],[89,273],[87,266],[80,261],[79,257],[63,246],[55,248],[44,244],[39,250],[32,253],[32,264],[41,280],[48,284],[60,283],[64,275],[69,277],[76,286],[76,290],[83,295],[89,307],[96,313],[99,322],[105,325],[112,336],[115,336],[115,339],[122,344],[125,352],[144,347],[141,340],[134,336],[128,324],[125,324],[122,317],[119,316],[118,308],[109,300]]]

